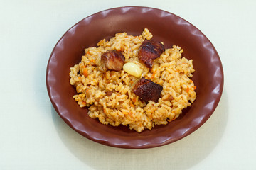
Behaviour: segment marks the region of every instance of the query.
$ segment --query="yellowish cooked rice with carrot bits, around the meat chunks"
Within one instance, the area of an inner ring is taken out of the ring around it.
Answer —
[[[132,36],[117,33],[109,41],[103,39],[97,47],[85,49],[82,61],[70,68],[70,84],[78,94],[73,98],[80,107],[89,108],[90,118],[98,118],[102,124],[113,126],[129,125],[142,132],[154,125],[166,125],[181,114],[183,108],[191,106],[196,99],[196,86],[190,79],[194,72],[192,60],[182,57],[181,47],[174,45],[166,49],[153,67],[147,68],[137,57],[143,40],[152,38],[148,29],[142,35]],[[107,50],[121,51],[125,62],[133,62],[142,70],[142,76],[163,86],[157,103],[141,101],[132,91],[138,79],[122,69],[119,72],[101,72],[100,57]],[[107,96],[107,91],[113,91]]]

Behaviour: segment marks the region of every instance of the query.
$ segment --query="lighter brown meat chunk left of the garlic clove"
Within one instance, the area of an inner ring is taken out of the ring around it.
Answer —
[[[124,60],[125,57],[122,52],[111,50],[102,54],[100,62],[105,70],[120,71],[124,65]]]

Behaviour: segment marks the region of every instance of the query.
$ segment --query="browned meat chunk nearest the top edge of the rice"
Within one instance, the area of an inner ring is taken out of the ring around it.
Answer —
[[[144,40],[139,47],[139,62],[146,64],[146,67],[152,68],[154,59],[160,57],[165,50],[164,45],[152,40]]]

